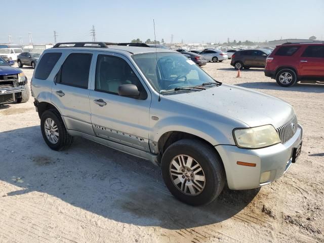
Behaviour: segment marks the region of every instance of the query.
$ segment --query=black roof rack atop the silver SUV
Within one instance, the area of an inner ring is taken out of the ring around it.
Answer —
[[[64,48],[64,47],[98,47],[108,48],[108,46],[130,46],[130,47],[149,47],[145,43],[112,43],[112,42],[61,42],[55,44],[53,48]]]

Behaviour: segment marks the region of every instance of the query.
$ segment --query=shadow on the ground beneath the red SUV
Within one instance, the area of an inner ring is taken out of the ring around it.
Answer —
[[[281,90],[281,91],[293,91],[293,92],[303,92],[303,93],[324,93],[324,85],[320,84],[300,84],[297,83],[292,87],[281,87],[275,80],[272,82],[253,82],[253,83],[242,83],[236,84],[240,87],[259,89],[259,90]]]

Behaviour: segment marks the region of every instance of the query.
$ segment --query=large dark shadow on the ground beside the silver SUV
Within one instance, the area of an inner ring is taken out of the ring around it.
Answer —
[[[39,126],[3,132],[0,139],[6,141],[0,144],[0,180],[18,186],[0,200],[24,201],[25,194],[38,191],[114,221],[183,229],[235,216],[260,190],[225,189],[212,204],[191,207],[169,193],[160,169],[149,161],[83,138],[75,138],[68,150],[53,151]]]

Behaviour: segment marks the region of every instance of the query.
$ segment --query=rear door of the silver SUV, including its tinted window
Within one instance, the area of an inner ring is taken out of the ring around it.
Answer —
[[[89,73],[92,54],[69,53],[52,86],[52,102],[58,106],[66,128],[94,135],[89,105]]]

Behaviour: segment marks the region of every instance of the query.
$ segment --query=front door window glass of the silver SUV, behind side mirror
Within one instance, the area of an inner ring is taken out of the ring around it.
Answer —
[[[118,87],[127,84],[136,85],[140,93],[146,94],[139,78],[123,58],[98,55],[95,90],[118,95]]]

